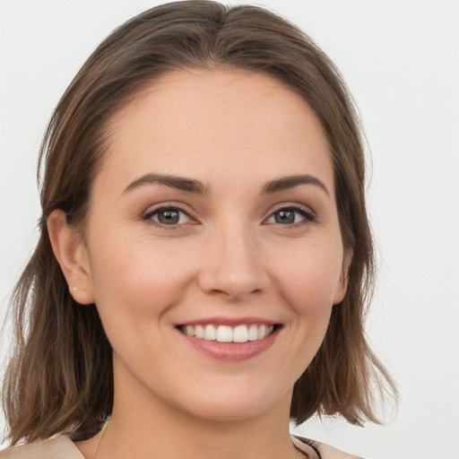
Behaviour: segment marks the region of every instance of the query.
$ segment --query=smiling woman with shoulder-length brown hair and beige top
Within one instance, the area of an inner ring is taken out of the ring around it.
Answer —
[[[290,437],[377,421],[373,255],[351,98],[252,6],[165,4],[115,30],[40,154],[13,295],[4,457],[353,457]],[[30,301],[30,310],[28,309]]]

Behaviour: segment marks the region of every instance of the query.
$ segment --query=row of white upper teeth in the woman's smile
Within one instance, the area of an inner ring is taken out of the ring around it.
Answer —
[[[273,325],[184,325],[182,332],[188,336],[217,342],[247,342],[263,340],[273,333]]]

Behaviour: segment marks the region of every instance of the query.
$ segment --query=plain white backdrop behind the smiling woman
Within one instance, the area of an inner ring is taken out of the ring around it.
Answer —
[[[2,314],[36,241],[36,159],[52,109],[111,30],[159,3],[0,0]],[[458,459],[459,1],[259,4],[306,30],[357,100],[379,262],[368,338],[401,394],[385,426],[309,420],[297,431],[367,458]],[[2,361],[8,341],[6,330]]]

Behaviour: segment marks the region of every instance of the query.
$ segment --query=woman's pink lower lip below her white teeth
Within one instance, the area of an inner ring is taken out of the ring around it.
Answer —
[[[281,327],[280,327],[281,328]],[[256,355],[267,351],[273,346],[280,328],[275,330],[270,335],[266,336],[263,340],[248,341],[248,342],[218,342],[208,341],[201,338],[195,338],[188,334],[180,333],[187,342],[195,347],[198,351],[212,357],[213,359],[239,361],[247,360],[255,357]]]

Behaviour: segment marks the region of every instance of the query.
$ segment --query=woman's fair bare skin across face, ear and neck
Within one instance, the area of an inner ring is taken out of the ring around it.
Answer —
[[[111,132],[82,234],[61,211],[48,221],[74,299],[97,304],[114,351],[112,419],[102,441],[77,447],[87,459],[98,447],[113,459],[298,457],[292,387],[346,289],[316,115],[264,74],[178,71],[121,109]],[[198,180],[208,193],[158,183],[126,191],[148,173]],[[262,193],[306,174],[323,186]],[[152,214],[164,205],[184,211],[178,224]],[[308,217],[279,222],[292,206]],[[209,316],[263,317],[281,329],[255,357],[215,359],[177,329]]]

